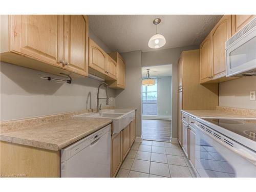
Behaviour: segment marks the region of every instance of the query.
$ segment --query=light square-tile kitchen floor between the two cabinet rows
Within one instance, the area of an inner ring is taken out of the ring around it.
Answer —
[[[194,177],[178,144],[159,141],[134,142],[117,177]]]

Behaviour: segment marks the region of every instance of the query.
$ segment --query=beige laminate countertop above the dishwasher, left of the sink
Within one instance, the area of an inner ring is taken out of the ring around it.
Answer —
[[[67,118],[1,132],[0,140],[59,151],[110,124],[110,119]]]

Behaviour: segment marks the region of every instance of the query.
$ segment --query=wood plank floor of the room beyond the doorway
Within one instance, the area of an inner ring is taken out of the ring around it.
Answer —
[[[144,140],[170,141],[170,120],[142,119]]]

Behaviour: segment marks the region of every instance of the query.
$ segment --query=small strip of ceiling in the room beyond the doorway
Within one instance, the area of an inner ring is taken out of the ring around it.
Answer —
[[[142,68],[142,77],[146,77],[147,70],[150,69],[151,77],[168,77],[172,76],[172,65],[163,65],[163,66],[152,66],[152,67],[143,67]]]

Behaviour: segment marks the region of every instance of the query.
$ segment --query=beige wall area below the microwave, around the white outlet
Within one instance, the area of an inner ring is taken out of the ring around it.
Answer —
[[[256,110],[250,101],[250,91],[256,91],[256,77],[242,77],[219,84],[219,105]]]

